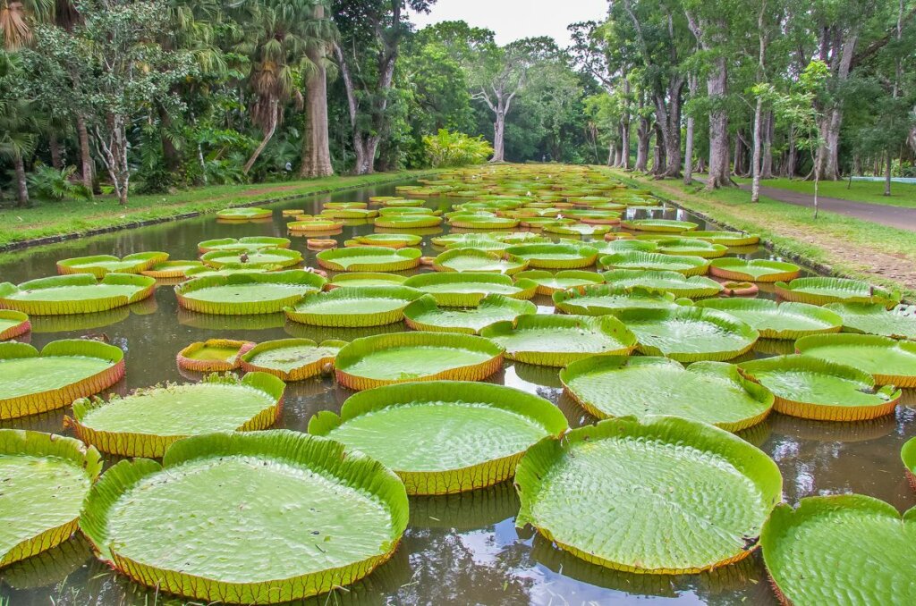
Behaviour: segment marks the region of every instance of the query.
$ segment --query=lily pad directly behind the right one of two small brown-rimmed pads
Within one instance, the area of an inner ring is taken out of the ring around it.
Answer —
[[[404,308],[422,296],[403,286],[334,288],[306,295],[283,311],[292,321],[311,326],[384,326],[404,319]]]

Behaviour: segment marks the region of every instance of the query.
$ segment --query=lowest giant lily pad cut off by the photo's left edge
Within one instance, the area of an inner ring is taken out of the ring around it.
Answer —
[[[100,471],[98,450],[78,440],[0,429],[0,568],[70,538]]]

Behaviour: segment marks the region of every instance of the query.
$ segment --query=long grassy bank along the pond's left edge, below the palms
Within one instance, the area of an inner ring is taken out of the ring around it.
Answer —
[[[188,212],[216,212],[258,200],[272,200],[339,189],[352,189],[399,179],[417,178],[431,170],[379,173],[360,177],[328,177],[247,185],[217,185],[174,194],[131,196],[126,207],[111,196],[94,200],[35,200],[27,209],[0,209],[0,247],[5,245],[135,222],[168,219]]]

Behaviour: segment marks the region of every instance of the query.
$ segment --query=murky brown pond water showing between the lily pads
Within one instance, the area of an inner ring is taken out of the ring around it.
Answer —
[[[165,251],[172,260],[197,257],[202,240],[246,235],[286,236],[286,220],[279,209],[318,213],[326,201],[365,201],[370,196],[394,195],[394,186],[354,189],[330,196],[312,196],[268,205],[274,218],[266,222],[220,223],[213,215],[170,222],[21,252],[0,253],[0,282],[23,282],[55,275],[55,263],[85,254],[122,256],[142,251]],[[462,200],[434,198],[428,205],[447,210]],[[685,211],[666,207],[658,211],[629,211],[635,218],[681,219],[701,223]],[[334,236],[343,243],[354,234],[372,233],[369,223],[347,225]],[[445,231],[447,226],[443,226]],[[438,254],[424,236],[423,254]],[[292,248],[317,266],[305,238],[292,237]],[[771,258],[769,251],[750,247],[735,251],[755,258]],[[420,269],[418,271],[428,271]],[[407,272],[405,274],[409,274]],[[762,297],[771,297],[761,288]],[[770,288],[771,290],[771,288]],[[540,313],[552,313],[551,300],[534,299]],[[125,351],[127,374],[114,391],[125,394],[136,387],[165,381],[182,382],[198,376],[180,372],[175,355],[192,341],[214,337],[269,341],[289,336],[315,341],[358,337],[406,330],[395,324],[376,329],[322,329],[287,322],[282,314],[232,318],[191,313],[179,308],[171,285],[163,283],[154,297],[130,308],[82,317],[33,318],[26,335],[39,349],[49,341],[104,333]],[[761,345],[756,355],[776,353]],[[559,369],[507,361],[503,372],[490,378],[545,397],[561,408],[573,427],[593,422],[562,395]],[[287,386],[278,427],[305,431],[309,418],[320,410],[339,412],[351,395],[330,378],[316,378]],[[903,402],[916,403],[916,395]],[[62,431],[64,411],[0,422],[0,427]],[[773,413],[742,437],[769,454],[780,466],[785,499],[797,503],[805,496],[859,492],[884,499],[898,509],[916,504],[900,463],[900,447],[913,432],[914,409],[899,406],[897,413],[867,423],[824,423]],[[110,461],[111,458],[108,458]],[[205,498],[205,497],[202,497]],[[755,555],[713,573],[657,577],[616,572],[597,567],[560,551],[530,528],[517,529],[518,497],[506,482],[483,491],[448,497],[411,497],[410,523],[395,556],[367,579],[345,590],[335,590],[306,601],[308,604],[775,604],[766,572]],[[4,606],[135,606],[186,602],[145,590],[96,561],[84,539],[77,536],[41,556],[0,571],[0,604]],[[187,602],[194,603],[194,602]],[[302,603],[302,602],[299,602]]]

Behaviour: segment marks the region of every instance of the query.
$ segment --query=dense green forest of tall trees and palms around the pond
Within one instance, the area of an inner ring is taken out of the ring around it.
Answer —
[[[0,0],[0,198],[488,159],[916,176],[912,0],[612,0],[569,48],[410,23],[432,8]]]

